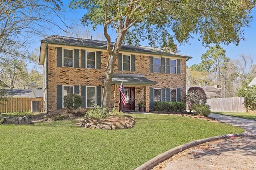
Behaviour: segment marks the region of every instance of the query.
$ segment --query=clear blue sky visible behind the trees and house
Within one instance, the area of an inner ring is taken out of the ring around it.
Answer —
[[[64,1],[64,5],[67,5],[67,4],[68,4],[68,1]],[[67,18],[66,22],[67,23],[71,22],[68,20],[74,20],[76,22],[79,22],[79,19],[82,18],[83,14],[84,14],[83,10],[76,10],[75,12],[66,12],[65,14],[65,17]],[[246,56],[251,55],[251,56],[255,56],[256,58],[256,8],[252,10],[251,15],[253,16],[253,20],[250,23],[250,27],[244,28],[244,38],[246,40],[245,41],[241,40],[238,46],[234,44],[221,45],[221,47],[223,47],[223,49],[226,50],[226,57],[229,57],[231,60],[240,59],[239,57],[240,54],[244,54]],[[103,33],[103,26],[102,28],[98,27],[96,32]],[[96,32],[92,31],[92,34],[96,35]],[[108,31],[108,33],[112,35],[111,36],[112,41],[114,41],[115,33],[112,34],[112,32],[115,32],[115,31],[114,30]],[[55,30],[54,33],[49,32],[49,35],[52,35],[52,34],[66,36],[65,33],[60,30]],[[39,39],[37,39],[37,42],[35,42],[35,45],[37,45],[35,48],[40,47]],[[141,42],[140,45],[149,46],[146,42]],[[208,50],[208,47],[204,47],[202,45],[202,42],[198,41],[198,36],[196,35],[194,36],[193,39],[190,39],[189,43],[185,43],[182,45],[177,44],[177,48],[179,51],[178,53],[192,57],[192,59],[189,59],[186,63],[187,66],[189,67],[193,64],[201,63],[202,54],[206,53],[206,51]]]

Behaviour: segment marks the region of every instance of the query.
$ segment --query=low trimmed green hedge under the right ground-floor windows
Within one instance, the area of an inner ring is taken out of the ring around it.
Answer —
[[[183,102],[154,102],[154,111],[186,111],[186,104]]]

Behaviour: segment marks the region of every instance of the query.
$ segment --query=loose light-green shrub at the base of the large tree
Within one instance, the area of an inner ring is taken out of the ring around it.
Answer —
[[[104,119],[110,116],[108,112],[103,111],[102,107],[96,104],[92,104],[92,107],[92,109],[86,112],[84,117],[92,119]]]

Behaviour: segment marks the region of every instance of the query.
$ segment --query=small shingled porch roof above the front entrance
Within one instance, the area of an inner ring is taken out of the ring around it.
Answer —
[[[114,73],[112,77],[112,84],[121,84],[121,82],[124,83],[124,86],[150,86],[157,84],[157,82],[148,80],[142,74]]]

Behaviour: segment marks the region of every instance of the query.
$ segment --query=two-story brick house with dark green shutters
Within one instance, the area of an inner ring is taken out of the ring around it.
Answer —
[[[114,43],[112,43],[114,45]],[[41,41],[39,64],[43,65],[44,108],[49,113],[62,112],[63,96],[82,96],[79,111],[102,103],[108,53],[106,41],[51,35]],[[122,44],[114,67],[110,109],[146,111],[154,101],[186,102],[186,61],[192,57],[156,49]],[[120,102],[119,87],[124,83],[126,105]]]

